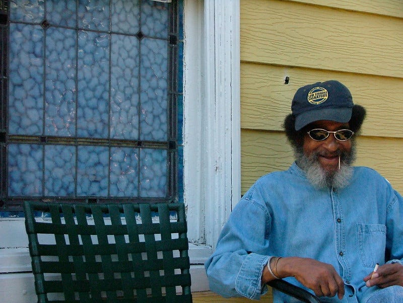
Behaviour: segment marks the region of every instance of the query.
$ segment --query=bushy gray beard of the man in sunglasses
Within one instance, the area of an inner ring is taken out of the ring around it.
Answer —
[[[352,163],[356,159],[356,148],[352,143],[351,152],[340,152],[340,169],[327,172],[318,161],[318,153],[306,157],[302,148],[295,150],[296,162],[300,169],[306,173],[309,182],[318,189],[322,188],[344,188],[349,185],[353,175]]]

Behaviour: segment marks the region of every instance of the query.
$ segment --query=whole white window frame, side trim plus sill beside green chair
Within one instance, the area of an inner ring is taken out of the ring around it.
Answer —
[[[192,291],[241,195],[239,0],[184,0],[183,175]],[[31,302],[23,218],[1,218],[0,297]],[[27,273],[28,272],[28,273]]]

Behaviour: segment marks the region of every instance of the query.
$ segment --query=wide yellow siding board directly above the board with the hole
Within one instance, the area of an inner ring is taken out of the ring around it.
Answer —
[[[241,0],[241,60],[403,77],[403,22],[287,1]]]

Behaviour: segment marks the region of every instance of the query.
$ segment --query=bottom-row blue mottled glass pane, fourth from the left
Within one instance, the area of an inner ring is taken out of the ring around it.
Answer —
[[[110,153],[110,196],[137,196],[139,184],[138,149],[113,147]]]

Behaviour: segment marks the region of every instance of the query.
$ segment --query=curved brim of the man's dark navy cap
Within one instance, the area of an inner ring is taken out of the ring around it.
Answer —
[[[300,130],[309,123],[319,120],[330,120],[336,122],[349,122],[352,108],[322,108],[301,113],[295,117],[295,130]]]

